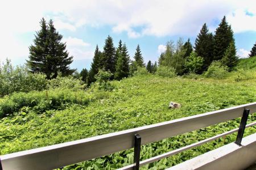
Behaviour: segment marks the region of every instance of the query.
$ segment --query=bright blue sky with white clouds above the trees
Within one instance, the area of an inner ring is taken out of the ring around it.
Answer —
[[[96,45],[102,50],[108,35],[115,46],[120,39],[126,43],[131,59],[139,44],[144,61],[154,62],[167,41],[182,37],[194,43],[204,23],[214,33],[224,15],[234,31],[238,56],[247,57],[256,41],[255,0],[2,1],[0,61],[26,63],[43,17],[53,20],[73,56],[71,68],[80,71],[90,68]]]

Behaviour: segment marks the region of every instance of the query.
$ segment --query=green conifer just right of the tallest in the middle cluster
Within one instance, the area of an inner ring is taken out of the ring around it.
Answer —
[[[125,44],[122,46],[121,55],[118,57],[116,71],[114,74],[114,78],[117,80],[121,80],[122,78],[129,76],[129,62],[130,57],[128,54],[128,50]]]

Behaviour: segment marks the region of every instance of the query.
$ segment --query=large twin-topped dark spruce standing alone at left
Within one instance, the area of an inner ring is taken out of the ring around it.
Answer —
[[[49,20],[47,26],[46,21],[42,19],[40,25],[41,29],[35,35],[35,45],[29,48],[27,65],[31,72],[45,73],[47,79],[56,78],[58,72],[64,76],[71,75],[75,71],[69,68],[73,56],[69,57],[66,44],[61,42],[63,36],[56,31],[52,20]]]

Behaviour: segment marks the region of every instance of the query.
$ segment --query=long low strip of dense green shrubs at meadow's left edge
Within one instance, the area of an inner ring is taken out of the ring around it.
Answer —
[[[83,90],[74,92],[72,89],[55,89],[33,92],[19,92],[5,96],[0,100],[0,117],[18,112],[23,107],[30,107],[36,113],[51,109],[64,109],[70,104],[87,105],[92,100]]]

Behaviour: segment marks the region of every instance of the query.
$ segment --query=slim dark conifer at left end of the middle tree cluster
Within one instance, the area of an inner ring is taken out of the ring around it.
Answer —
[[[98,70],[101,69],[101,57],[102,53],[98,49],[98,45],[96,46],[96,50],[94,52],[94,57],[93,57],[93,62],[90,65],[90,71],[88,73],[88,78],[87,78],[87,84],[88,86],[92,83],[95,82],[96,79],[94,76],[98,73]]]

